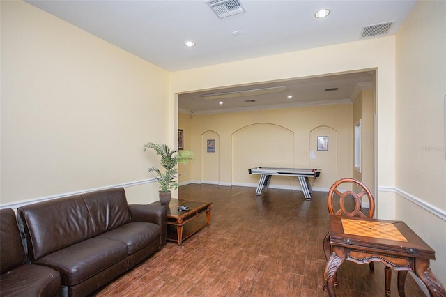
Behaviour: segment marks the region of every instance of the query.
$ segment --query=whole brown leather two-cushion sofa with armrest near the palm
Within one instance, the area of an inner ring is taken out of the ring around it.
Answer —
[[[160,250],[167,207],[128,205],[123,188],[17,209],[28,257],[61,274],[62,296],[86,296]]]

